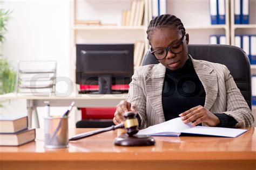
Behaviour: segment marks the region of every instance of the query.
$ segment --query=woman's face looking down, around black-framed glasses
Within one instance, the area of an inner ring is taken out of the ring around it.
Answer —
[[[169,47],[171,45],[176,46],[178,42],[182,41],[181,31],[177,29],[177,27],[164,27],[153,30],[150,35],[150,44],[152,47],[152,51],[156,51],[158,49],[163,49]],[[162,65],[171,69],[177,70],[184,66],[186,60],[188,59],[187,52],[187,44],[189,41],[188,34],[185,35],[185,41],[181,46],[183,47],[183,51],[178,54],[173,54],[168,51],[166,58],[162,60],[158,60]],[[174,47],[173,47],[174,48]],[[182,49],[182,48],[181,48]]]

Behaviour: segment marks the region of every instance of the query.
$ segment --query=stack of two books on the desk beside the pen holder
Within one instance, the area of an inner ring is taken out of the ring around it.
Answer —
[[[35,129],[28,129],[27,116],[0,115],[0,146],[19,146],[35,138]]]

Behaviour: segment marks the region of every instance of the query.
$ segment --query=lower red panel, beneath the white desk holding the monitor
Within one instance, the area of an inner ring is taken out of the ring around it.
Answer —
[[[113,119],[116,108],[81,108],[82,119]]]

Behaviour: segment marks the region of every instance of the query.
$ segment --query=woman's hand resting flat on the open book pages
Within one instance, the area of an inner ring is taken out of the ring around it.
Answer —
[[[181,120],[186,124],[193,122],[193,126],[196,126],[200,123],[204,123],[208,126],[217,126],[220,124],[220,119],[201,105],[191,108],[190,110],[179,114],[179,116],[181,117]]]

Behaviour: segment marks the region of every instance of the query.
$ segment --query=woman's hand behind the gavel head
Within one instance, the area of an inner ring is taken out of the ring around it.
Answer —
[[[133,111],[134,114],[137,114],[138,108],[136,104],[131,104],[127,101],[120,101],[119,104],[117,104],[117,109],[114,112],[114,118],[113,122],[114,124],[119,124],[125,120],[124,113],[127,111]]]

